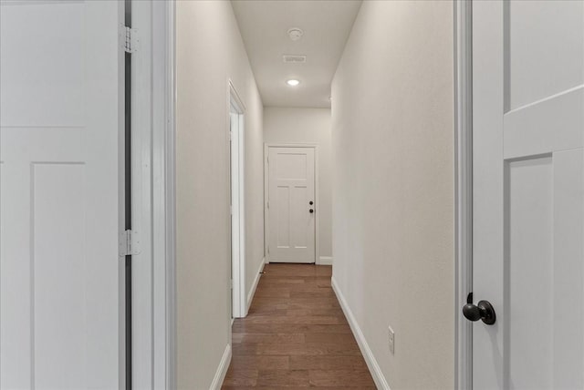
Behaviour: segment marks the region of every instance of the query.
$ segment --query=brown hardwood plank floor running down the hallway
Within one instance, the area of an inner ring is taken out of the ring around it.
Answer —
[[[331,271],[266,264],[248,316],[233,325],[223,389],[375,389],[330,287]]]

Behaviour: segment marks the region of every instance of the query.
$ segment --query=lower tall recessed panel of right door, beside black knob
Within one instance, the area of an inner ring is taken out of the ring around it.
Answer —
[[[513,367],[510,386],[551,388],[553,159],[511,161],[507,165],[507,177],[505,239],[508,252],[503,286],[507,312],[500,320],[505,322],[504,332],[509,332],[509,341],[512,341],[508,344],[506,363]],[[537,310],[529,303],[537,304]],[[532,372],[531,368],[537,370]]]

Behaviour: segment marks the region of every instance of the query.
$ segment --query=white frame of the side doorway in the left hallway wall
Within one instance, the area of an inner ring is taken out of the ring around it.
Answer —
[[[232,107],[237,111],[238,117],[235,133],[231,129]],[[245,104],[231,79],[227,81],[227,148],[231,157],[228,207],[231,209],[229,245],[233,319],[244,318],[247,315],[247,299],[245,294]],[[236,172],[232,169],[234,166],[237,169]]]

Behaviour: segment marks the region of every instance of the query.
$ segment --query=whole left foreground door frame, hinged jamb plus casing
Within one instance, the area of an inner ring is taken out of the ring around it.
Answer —
[[[175,1],[132,0],[132,28],[137,34],[138,62],[132,108],[132,226],[140,236],[134,270],[133,316],[135,387],[176,388],[175,283]],[[141,11],[139,11],[141,9]],[[136,271],[138,270],[138,271]],[[140,337],[140,340],[137,339]],[[136,350],[139,345],[140,349]],[[139,365],[137,365],[139,364]]]

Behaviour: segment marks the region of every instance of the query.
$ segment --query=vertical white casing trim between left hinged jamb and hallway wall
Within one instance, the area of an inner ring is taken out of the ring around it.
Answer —
[[[152,388],[176,388],[175,2],[152,3]]]

